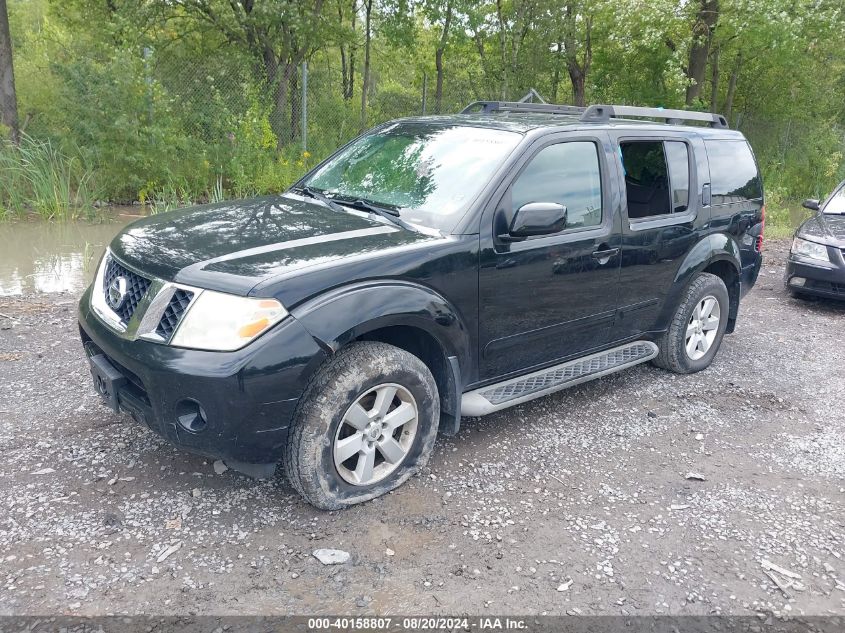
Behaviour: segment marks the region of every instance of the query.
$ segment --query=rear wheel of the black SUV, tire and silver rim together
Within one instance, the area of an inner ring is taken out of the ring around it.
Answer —
[[[669,329],[657,341],[652,361],[678,374],[710,366],[728,326],[728,289],[716,275],[701,273],[682,295]]]

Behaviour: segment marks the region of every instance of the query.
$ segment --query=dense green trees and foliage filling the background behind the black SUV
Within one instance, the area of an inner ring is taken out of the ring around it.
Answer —
[[[845,176],[841,0],[5,1],[20,126],[112,200],[278,190],[362,127],[419,113],[424,77],[436,112],[529,88],[722,112],[772,200]]]

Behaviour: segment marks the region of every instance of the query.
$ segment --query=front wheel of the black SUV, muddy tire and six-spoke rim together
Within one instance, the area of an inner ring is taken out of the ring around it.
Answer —
[[[283,466],[324,510],[367,501],[428,461],[440,399],[425,364],[385,343],[354,343],[318,372],[297,407]]]

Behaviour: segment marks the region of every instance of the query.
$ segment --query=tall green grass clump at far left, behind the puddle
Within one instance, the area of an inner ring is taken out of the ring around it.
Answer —
[[[26,135],[18,146],[0,145],[0,218],[30,212],[49,220],[90,216],[96,199],[93,173],[78,154]]]

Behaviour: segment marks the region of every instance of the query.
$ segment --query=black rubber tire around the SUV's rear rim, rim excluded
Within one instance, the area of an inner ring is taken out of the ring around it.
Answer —
[[[719,303],[721,312],[719,326],[716,329],[716,338],[707,353],[701,358],[693,360],[685,349],[687,324],[696,305],[707,296],[715,297]],[[700,273],[681,295],[681,300],[672,317],[669,329],[655,341],[660,348],[660,352],[651,362],[676,374],[692,374],[709,367],[719,351],[725,329],[728,326],[729,306],[730,300],[725,282],[716,275]]]

